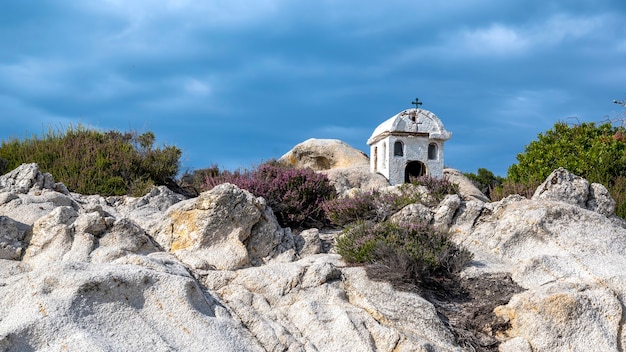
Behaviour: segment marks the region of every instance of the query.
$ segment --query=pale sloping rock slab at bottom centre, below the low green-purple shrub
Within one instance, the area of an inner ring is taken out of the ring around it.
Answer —
[[[337,255],[202,280],[265,350],[460,351],[430,303],[369,280],[363,268],[343,268]]]

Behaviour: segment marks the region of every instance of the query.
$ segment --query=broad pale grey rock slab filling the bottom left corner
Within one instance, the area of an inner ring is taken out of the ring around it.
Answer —
[[[0,275],[3,351],[262,351],[188,273],[51,262]]]

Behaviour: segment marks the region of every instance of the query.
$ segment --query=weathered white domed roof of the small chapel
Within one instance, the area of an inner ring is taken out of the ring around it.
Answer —
[[[430,139],[442,141],[452,137],[452,133],[446,131],[437,115],[428,110],[407,109],[378,125],[367,140],[367,144],[376,143],[381,138],[394,133],[427,136]]]

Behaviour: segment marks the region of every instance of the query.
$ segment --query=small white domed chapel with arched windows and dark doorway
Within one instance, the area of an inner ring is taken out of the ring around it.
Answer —
[[[443,144],[450,137],[432,112],[404,110],[376,127],[367,140],[370,171],[385,176],[391,185],[424,175],[441,178]]]

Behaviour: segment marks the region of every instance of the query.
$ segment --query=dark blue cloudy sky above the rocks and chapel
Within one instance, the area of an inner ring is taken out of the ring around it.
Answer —
[[[453,133],[446,165],[506,175],[626,98],[623,0],[3,1],[0,46],[0,139],[153,131],[195,169],[313,137],[369,152],[419,97]]]

